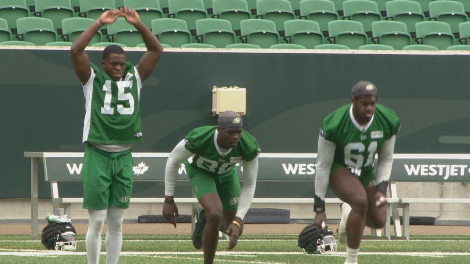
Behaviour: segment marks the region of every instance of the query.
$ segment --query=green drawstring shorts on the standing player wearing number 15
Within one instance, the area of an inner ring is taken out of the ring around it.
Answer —
[[[126,209],[132,194],[131,150],[110,153],[88,144],[83,157],[83,208]]]

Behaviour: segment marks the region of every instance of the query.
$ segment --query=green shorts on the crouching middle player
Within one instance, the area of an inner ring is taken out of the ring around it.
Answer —
[[[241,187],[236,172],[224,176],[216,176],[213,173],[186,165],[186,173],[191,181],[192,190],[197,199],[204,195],[215,193],[222,201],[224,211],[236,211]]]

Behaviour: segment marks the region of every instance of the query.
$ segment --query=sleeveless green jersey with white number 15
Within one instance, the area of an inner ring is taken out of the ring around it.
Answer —
[[[83,142],[132,144],[142,141],[139,96],[141,78],[136,67],[126,63],[122,81],[90,63],[92,74],[83,86],[85,122]]]

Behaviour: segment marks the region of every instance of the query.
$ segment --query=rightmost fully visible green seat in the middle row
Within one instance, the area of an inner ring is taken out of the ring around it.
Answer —
[[[436,46],[440,50],[446,50],[454,45],[454,35],[450,31],[450,25],[439,21],[423,21],[416,23],[416,43]]]

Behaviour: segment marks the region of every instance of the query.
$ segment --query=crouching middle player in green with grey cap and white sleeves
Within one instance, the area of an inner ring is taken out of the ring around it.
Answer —
[[[174,202],[179,164],[185,162],[192,188],[204,211],[196,212],[192,242],[204,249],[204,264],[214,262],[219,230],[230,236],[228,249],[236,246],[243,231],[243,219],[255,194],[258,176],[258,141],[243,130],[234,111],[224,111],[218,126],[199,127],[189,132],[166,161],[164,218],[176,227],[178,209]],[[192,156],[192,161],[187,159]],[[235,170],[243,161],[243,188]]]

